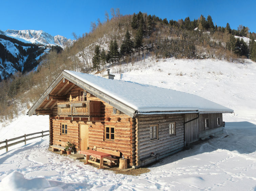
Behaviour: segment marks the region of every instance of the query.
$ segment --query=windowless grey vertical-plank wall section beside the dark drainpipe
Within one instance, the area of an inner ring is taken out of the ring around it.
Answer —
[[[185,114],[185,122],[197,117],[197,114]],[[199,139],[199,128],[198,119],[188,122],[184,125],[185,127],[185,141],[186,143],[191,143]]]

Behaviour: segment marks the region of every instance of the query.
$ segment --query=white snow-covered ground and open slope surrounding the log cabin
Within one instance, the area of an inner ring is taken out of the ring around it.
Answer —
[[[223,135],[160,160],[140,176],[97,170],[48,151],[48,137],[34,139],[0,151],[0,190],[256,190],[255,62],[146,60],[111,73],[115,79],[194,93],[235,115],[223,114]],[[0,141],[42,130],[48,130],[48,116],[21,114],[0,127]]]

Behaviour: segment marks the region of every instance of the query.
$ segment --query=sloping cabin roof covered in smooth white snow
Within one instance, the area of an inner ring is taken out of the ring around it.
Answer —
[[[111,80],[68,70],[64,70],[64,73],[141,114],[233,112],[232,109],[190,93],[129,81]]]

